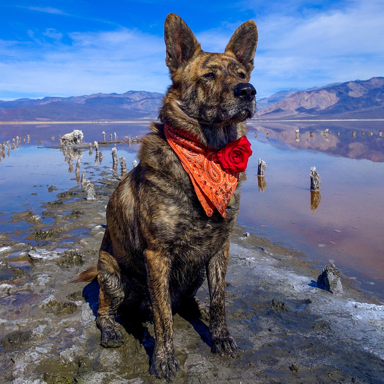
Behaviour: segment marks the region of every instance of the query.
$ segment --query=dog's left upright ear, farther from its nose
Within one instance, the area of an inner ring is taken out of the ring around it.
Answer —
[[[170,13],[164,24],[164,40],[167,46],[166,64],[171,73],[181,69],[201,46],[184,20]]]

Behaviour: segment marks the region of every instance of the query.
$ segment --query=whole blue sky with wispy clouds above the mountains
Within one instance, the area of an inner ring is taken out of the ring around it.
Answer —
[[[169,12],[210,52],[254,20],[260,97],[384,76],[382,0],[12,0],[0,2],[0,99],[163,93]]]

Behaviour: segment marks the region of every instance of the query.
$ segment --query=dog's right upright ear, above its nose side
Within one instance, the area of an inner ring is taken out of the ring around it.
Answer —
[[[234,53],[237,60],[247,68],[248,73],[251,73],[253,70],[257,38],[256,24],[254,21],[248,20],[237,28],[225,47],[225,53]]]

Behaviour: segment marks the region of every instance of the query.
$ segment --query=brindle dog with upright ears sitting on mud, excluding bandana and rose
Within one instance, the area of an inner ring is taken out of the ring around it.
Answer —
[[[172,85],[164,96],[161,123],[152,122],[152,132],[142,138],[139,164],[111,195],[97,269],[83,272],[77,281],[97,276],[96,324],[104,347],[116,348],[124,342],[115,324],[123,302],[136,308],[150,306],[156,340],[149,372],[169,380],[178,369],[172,310],[180,305],[193,304],[201,316],[209,316],[212,353],[233,356],[237,350],[225,320],[224,278],[240,183],[235,203],[225,210],[227,218],[217,210],[208,217],[164,136],[164,124],[193,132],[213,151],[246,133],[244,121],[256,107],[256,91],[248,81],[257,28],[253,21],[243,23],[224,53],[208,53],[185,22],[170,13],[165,42]],[[205,275],[210,306],[195,297]]]

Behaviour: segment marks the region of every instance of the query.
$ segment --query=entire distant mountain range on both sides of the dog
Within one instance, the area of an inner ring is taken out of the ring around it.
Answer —
[[[0,121],[100,121],[156,118],[162,94],[96,93],[68,98],[0,100]],[[384,118],[384,77],[290,89],[257,100],[265,120]]]

